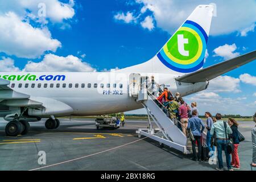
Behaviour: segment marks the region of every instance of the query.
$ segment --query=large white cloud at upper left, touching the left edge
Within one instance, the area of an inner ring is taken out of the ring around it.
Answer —
[[[48,28],[34,28],[15,13],[0,15],[0,52],[24,58],[37,58],[45,51],[61,47]]]

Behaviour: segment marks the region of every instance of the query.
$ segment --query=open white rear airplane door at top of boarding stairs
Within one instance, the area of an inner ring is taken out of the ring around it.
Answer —
[[[141,75],[139,73],[131,73],[129,76],[130,97],[138,96],[140,85],[141,85]]]

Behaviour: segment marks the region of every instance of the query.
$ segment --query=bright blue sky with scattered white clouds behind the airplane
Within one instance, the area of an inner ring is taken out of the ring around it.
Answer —
[[[201,3],[217,5],[204,67],[256,49],[253,0],[23,1],[0,2],[2,72],[106,71],[143,63]],[[38,15],[41,2],[45,16]],[[199,102],[200,114],[205,108],[254,114],[255,67],[256,61],[216,78],[209,90],[187,97],[187,102]]]

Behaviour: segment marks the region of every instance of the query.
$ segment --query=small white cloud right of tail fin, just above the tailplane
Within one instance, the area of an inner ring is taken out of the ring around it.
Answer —
[[[215,48],[213,52],[216,54],[213,56],[224,57],[224,59],[232,59],[233,57],[237,57],[240,55],[239,52],[234,52],[236,51],[236,49],[237,49],[236,44],[232,44],[232,45],[225,44],[224,46]]]

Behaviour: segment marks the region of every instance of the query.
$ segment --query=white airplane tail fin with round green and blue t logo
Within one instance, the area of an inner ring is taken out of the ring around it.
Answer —
[[[202,68],[213,10],[211,5],[197,6],[152,59],[120,71],[191,73]]]

